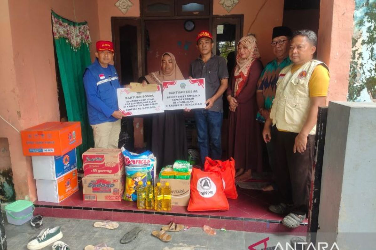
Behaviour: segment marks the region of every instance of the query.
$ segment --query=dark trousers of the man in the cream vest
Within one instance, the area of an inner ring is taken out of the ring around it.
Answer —
[[[277,130],[274,169],[282,202],[293,204],[291,212],[303,215],[308,213],[315,135],[308,135],[306,150],[303,153],[294,153],[297,135]]]

